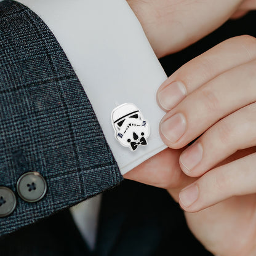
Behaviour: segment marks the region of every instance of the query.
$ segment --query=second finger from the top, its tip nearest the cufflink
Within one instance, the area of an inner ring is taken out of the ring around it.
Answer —
[[[170,148],[182,148],[218,120],[255,102],[255,66],[256,60],[237,66],[188,95],[162,119],[163,142]]]

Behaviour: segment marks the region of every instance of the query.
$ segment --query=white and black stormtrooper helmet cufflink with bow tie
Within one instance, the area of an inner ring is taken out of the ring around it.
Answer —
[[[111,121],[115,138],[122,146],[135,151],[139,145],[148,144],[146,138],[150,135],[150,125],[133,103],[124,103],[114,108]]]

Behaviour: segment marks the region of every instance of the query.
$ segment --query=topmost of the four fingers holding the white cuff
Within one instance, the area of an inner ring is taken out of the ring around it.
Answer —
[[[168,111],[219,74],[256,58],[256,39],[237,36],[221,42],[179,68],[159,87],[158,105]]]

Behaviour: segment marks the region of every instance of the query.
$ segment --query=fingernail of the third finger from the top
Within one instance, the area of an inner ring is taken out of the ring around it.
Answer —
[[[191,170],[199,164],[202,160],[202,145],[199,142],[195,142],[188,147],[180,155],[180,163],[187,169]]]

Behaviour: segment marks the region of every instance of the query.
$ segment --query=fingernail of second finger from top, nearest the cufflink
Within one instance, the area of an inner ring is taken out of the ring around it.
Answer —
[[[161,132],[164,137],[167,138],[171,143],[175,143],[185,133],[186,130],[186,119],[183,114],[175,114],[171,118],[162,122]]]

